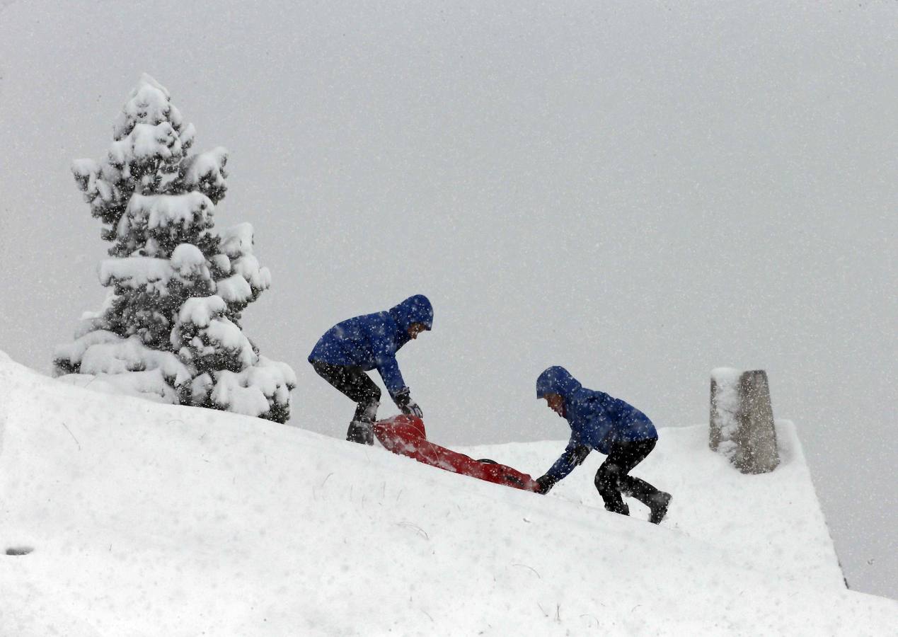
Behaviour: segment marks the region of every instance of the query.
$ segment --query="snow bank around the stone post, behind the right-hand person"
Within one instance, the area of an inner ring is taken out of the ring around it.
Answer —
[[[717,547],[747,568],[776,573],[795,583],[844,588],[844,579],[823,511],[814,492],[795,425],[777,421],[782,464],[772,473],[739,473],[708,447],[708,426],[659,430],[657,447],[634,475],[674,495],[664,526]],[[473,457],[544,473],[564,442],[461,449]],[[605,456],[593,453],[550,497],[602,508],[595,472]],[[631,514],[648,509],[629,499]]]

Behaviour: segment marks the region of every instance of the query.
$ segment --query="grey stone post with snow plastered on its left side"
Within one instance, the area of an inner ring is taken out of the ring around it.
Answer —
[[[742,473],[767,473],[779,465],[777,432],[767,373],[731,367],[711,371],[709,445]]]

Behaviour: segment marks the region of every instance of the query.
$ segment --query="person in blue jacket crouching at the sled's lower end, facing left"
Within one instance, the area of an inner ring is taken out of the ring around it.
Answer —
[[[568,420],[570,441],[545,475],[536,479],[540,493],[548,493],[593,449],[608,457],[595,473],[595,488],[605,509],[629,516],[621,498],[636,498],[651,510],[649,521],[659,524],[667,514],[671,495],[658,491],[629,472],[642,462],[658,441],[658,432],[646,414],[603,392],[586,389],[564,367],[549,367],[536,379],[536,397]]]

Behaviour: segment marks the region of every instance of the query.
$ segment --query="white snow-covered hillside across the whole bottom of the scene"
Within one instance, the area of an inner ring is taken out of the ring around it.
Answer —
[[[898,625],[898,603],[841,585],[788,425],[767,476],[735,473],[700,428],[662,430],[637,472],[674,492],[652,526],[638,504],[633,518],[600,508],[598,458],[540,497],[379,447],[65,385],[2,354],[0,387],[0,549],[33,549],[0,553],[0,634]],[[539,473],[562,446],[471,452]]]

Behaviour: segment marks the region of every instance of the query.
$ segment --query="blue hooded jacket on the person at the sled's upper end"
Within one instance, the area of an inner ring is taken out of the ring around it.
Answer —
[[[315,344],[309,362],[377,369],[390,395],[395,397],[405,382],[396,362],[396,352],[411,340],[409,325],[434,324],[434,308],[427,296],[409,296],[388,312],[364,314],[337,323]]]

